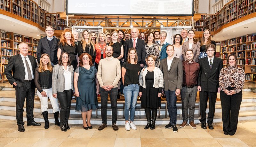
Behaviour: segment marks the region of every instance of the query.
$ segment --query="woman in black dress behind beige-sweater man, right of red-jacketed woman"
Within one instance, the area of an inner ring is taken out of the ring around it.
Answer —
[[[113,57],[117,58],[120,61],[120,65],[122,67],[123,62],[122,58],[124,57],[124,48],[122,43],[117,42],[118,34],[116,31],[111,33],[111,40],[108,45],[113,47]],[[117,99],[120,98],[120,86],[121,86],[121,81],[118,82],[118,94],[117,94]]]

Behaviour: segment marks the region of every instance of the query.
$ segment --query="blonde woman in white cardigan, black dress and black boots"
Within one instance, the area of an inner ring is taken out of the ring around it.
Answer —
[[[148,124],[144,129],[150,127],[155,129],[157,108],[161,106],[161,96],[164,87],[164,76],[162,71],[155,67],[155,56],[148,56],[148,67],[140,72],[140,92],[141,107],[145,108]],[[152,115],[151,115],[152,111]],[[151,124],[152,122],[152,124]]]

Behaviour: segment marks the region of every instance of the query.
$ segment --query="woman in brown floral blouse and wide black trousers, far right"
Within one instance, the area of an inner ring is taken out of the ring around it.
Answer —
[[[237,67],[236,61],[236,55],[230,54],[228,56],[228,67],[220,70],[220,101],[225,135],[234,135],[236,133],[238,114],[242,102],[244,69]]]

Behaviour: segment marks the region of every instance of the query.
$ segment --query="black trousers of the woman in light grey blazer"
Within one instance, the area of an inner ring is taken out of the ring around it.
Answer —
[[[57,91],[57,98],[60,102],[60,125],[68,123],[73,90]]]

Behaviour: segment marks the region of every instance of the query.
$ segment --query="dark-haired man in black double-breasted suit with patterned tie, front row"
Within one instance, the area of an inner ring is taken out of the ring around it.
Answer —
[[[207,123],[209,129],[214,129],[212,122],[215,112],[215,103],[217,98],[217,92],[220,93],[219,87],[219,75],[220,70],[223,67],[222,59],[214,57],[216,47],[213,44],[209,44],[205,47],[207,57],[199,59],[200,71],[198,75],[198,87],[200,91],[200,115],[201,115],[201,128],[206,129],[206,107],[209,97],[209,112],[207,117]]]

